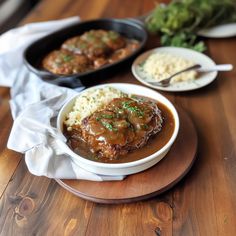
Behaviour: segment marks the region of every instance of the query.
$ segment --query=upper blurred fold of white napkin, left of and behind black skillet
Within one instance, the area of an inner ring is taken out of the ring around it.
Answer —
[[[23,52],[33,41],[53,31],[78,23],[78,16],[40,23],[26,24],[0,36],[0,85],[11,87],[23,65]]]

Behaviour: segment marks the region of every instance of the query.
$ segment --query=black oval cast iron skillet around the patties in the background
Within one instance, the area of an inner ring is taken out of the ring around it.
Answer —
[[[46,54],[59,48],[66,39],[75,35],[81,35],[85,31],[91,29],[114,30],[127,38],[138,40],[140,42],[140,47],[120,61],[89,72],[62,76],[48,72],[41,67],[41,61]],[[134,59],[145,46],[146,40],[147,32],[144,29],[142,22],[139,20],[111,18],[79,22],[33,42],[24,52],[24,63],[30,71],[34,72],[47,82],[71,88],[90,86],[96,84],[99,80],[114,74],[115,71],[120,70],[122,66]]]

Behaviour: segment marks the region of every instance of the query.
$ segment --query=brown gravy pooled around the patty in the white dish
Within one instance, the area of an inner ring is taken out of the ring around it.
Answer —
[[[156,151],[160,150],[170,140],[175,128],[175,121],[171,111],[160,102],[157,102],[157,105],[162,112],[162,117],[164,120],[162,129],[156,135],[151,137],[146,145],[140,149],[136,149],[126,155],[119,156],[114,160],[110,160],[108,158],[98,158],[89,150],[85,142],[70,139],[66,128],[64,128],[64,134],[68,138],[68,145],[81,157],[102,163],[127,163],[150,156]]]

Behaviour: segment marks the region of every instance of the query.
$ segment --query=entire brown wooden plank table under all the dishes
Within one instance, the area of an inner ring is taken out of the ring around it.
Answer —
[[[80,15],[134,17],[152,0],[43,0],[22,23]],[[236,39],[207,40],[216,63],[235,63]],[[147,45],[159,46],[158,38]],[[106,82],[138,82],[130,70]],[[12,126],[9,89],[0,88],[0,235],[236,235],[236,70],[209,86],[162,93],[192,117],[199,138],[197,161],[174,188],[150,200],[95,204],[31,175],[22,155],[6,148]],[[184,142],[184,140],[183,140]]]

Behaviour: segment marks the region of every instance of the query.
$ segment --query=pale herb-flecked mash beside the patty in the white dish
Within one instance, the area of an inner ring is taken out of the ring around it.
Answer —
[[[70,130],[71,126],[80,125],[85,117],[102,109],[112,99],[124,96],[126,96],[125,93],[112,87],[89,89],[77,97],[72,111],[67,115],[64,124]]]

